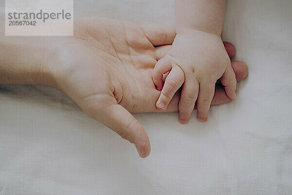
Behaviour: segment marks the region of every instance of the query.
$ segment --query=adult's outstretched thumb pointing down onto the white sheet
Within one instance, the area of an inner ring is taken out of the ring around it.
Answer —
[[[138,120],[123,106],[112,104],[92,114],[92,117],[133,143],[140,157],[149,156],[151,147],[148,135]]]

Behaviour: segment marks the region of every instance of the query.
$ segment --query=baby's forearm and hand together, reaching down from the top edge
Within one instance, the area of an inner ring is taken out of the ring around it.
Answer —
[[[206,121],[220,78],[229,98],[236,98],[236,77],[220,38],[225,0],[176,0],[176,37],[168,54],[157,62],[153,82],[166,109],[183,85],[179,103],[181,123],[187,123],[197,101],[198,119]],[[169,72],[170,71],[170,72]],[[163,75],[169,72],[163,83]]]

